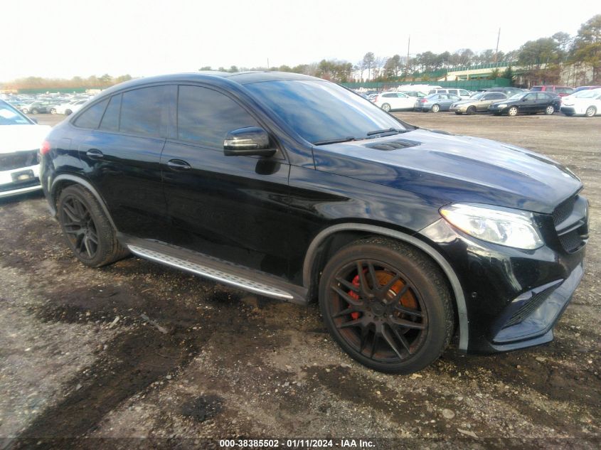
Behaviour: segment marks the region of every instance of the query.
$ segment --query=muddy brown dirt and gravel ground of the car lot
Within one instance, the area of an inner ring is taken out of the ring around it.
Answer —
[[[292,436],[335,438],[335,448],[340,438],[376,449],[599,448],[601,117],[398,117],[539,151],[583,179],[587,269],[553,343],[479,357],[450,347],[418,374],[383,375],[339,349],[316,305],[136,257],[84,267],[43,197],[26,195],[0,202],[0,449]]]

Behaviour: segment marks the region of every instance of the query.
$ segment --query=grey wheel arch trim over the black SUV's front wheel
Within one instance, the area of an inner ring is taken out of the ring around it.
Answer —
[[[317,277],[319,271],[323,269],[325,264],[324,257],[329,252],[329,250],[325,247],[332,242],[332,239],[341,237],[339,242],[352,242],[353,240],[366,235],[392,237],[393,239],[406,242],[414,247],[417,247],[419,250],[422,250],[422,252],[434,260],[437,266],[442,270],[442,273],[445,274],[445,277],[447,277],[452,289],[454,306],[457,309],[457,320],[459,322],[459,350],[462,352],[467,352],[469,337],[467,306],[463,289],[457,274],[455,274],[447,259],[445,259],[445,257],[443,257],[434,247],[426,242],[423,242],[422,240],[417,239],[417,237],[408,235],[404,232],[365,223],[339,223],[336,225],[331,225],[325,230],[321,230],[321,232],[319,232],[319,234],[317,234],[317,236],[315,236],[312,240],[304,257],[302,279],[304,287],[309,289],[309,296],[311,295],[313,290],[312,288],[315,285],[312,283],[312,280],[315,279],[314,277]],[[335,247],[340,248],[341,246]]]

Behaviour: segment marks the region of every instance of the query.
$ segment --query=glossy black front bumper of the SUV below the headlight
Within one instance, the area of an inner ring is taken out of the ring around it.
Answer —
[[[462,285],[465,311],[458,313],[467,317],[461,327],[467,338],[460,336],[460,350],[496,353],[553,340],[553,326],[583,277],[585,241],[568,252],[546,233],[543,247],[518,250],[465,235],[444,219],[420,235],[437,247]]]

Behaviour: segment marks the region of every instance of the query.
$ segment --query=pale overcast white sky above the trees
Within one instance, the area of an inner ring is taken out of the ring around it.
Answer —
[[[599,1],[3,0],[0,80],[134,77],[459,48],[575,35]]]

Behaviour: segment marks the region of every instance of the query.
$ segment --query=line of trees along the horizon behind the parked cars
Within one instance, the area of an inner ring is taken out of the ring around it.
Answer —
[[[520,48],[508,53],[487,49],[474,52],[463,48],[453,53],[445,51],[432,53],[426,51],[410,57],[393,55],[378,56],[373,52],[363,55],[356,63],[344,60],[321,60],[319,63],[300,64],[294,67],[244,68],[236,65],[230,68],[213,69],[205,66],[199,70],[219,70],[223,72],[241,72],[245,70],[279,70],[281,72],[303,73],[336,82],[349,81],[415,81],[430,80],[430,77],[444,76],[446,70],[457,66],[473,66],[496,62],[509,63],[504,73],[493,70],[491,77],[513,78],[511,66],[522,68],[524,82],[546,82],[553,84],[561,78],[565,65],[573,68],[574,80],[601,83],[601,14],[597,14],[583,23],[575,36],[558,32],[546,38],[528,41]],[[437,74],[437,72],[440,72]],[[592,73],[592,79],[587,76]],[[4,89],[18,88],[73,88],[73,87],[108,87],[122,81],[130,80],[129,75],[111,77],[108,74],[88,78],[73,77],[71,80],[55,80],[41,77],[28,77],[5,83]],[[588,80],[587,80],[588,79]]]

